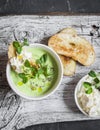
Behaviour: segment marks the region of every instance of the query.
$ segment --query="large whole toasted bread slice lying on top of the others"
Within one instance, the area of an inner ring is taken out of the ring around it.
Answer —
[[[71,57],[83,65],[89,66],[94,62],[95,52],[92,45],[77,35],[55,34],[49,39],[48,45],[58,54]]]

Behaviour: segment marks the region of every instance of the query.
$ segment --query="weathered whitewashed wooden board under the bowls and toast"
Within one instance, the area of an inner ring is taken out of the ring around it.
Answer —
[[[13,40],[27,37],[30,43],[47,44],[59,30],[72,26],[94,46],[96,60],[90,67],[77,65],[72,77],[64,77],[58,90],[41,101],[16,95],[6,80],[7,47]],[[74,88],[79,79],[93,69],[100,70],[100,16],[5,16],[0,17],[0,129],[16,130],[26,126],[89,120],[75,105]]]

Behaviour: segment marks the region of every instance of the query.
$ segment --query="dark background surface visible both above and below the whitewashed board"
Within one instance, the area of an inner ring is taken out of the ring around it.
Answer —
[[[22,14],[100,14],[100,0],[0,0],[0,16]],[[100,120],[30,126],[24,130],[100,130]]]

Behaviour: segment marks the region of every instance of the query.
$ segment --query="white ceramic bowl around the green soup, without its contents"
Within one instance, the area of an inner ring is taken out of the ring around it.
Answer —
[[[48,90],[45,94],[41,95],[41,96],[36,96],[36,97],[26,96],[24,93],[20,92],[17,89],[17,87],[15,86],[15,84],[13,83],[13,81],[11,79],[11,76],[10,76],[11,67],[10,67],[9,63],[7,63],[7,67],[6,67],[6,77],[7,77],[7,80],[8,80],[8,83],[9,83],[10,87],[18,95],[20,95],[21,97],[26,98],[26,99],[40,100],[40,99],[48,97],[49,95],[54,93],[55,90],[58,88],[58,86],[61,83],[62,77],[63,77],[63,67],[62,67],[62,63],[61,63],[61,60],[60,60],[59,56],[51,48],[49,48],[48,46],[42,45],[42,44],[31,44],[30,46],[38,47],[38,48],[42,48],[42,49],[46,50],[55,59],[55,61],[57,63],[57,66],[58,66],[58,77],[57,77],[57,79],[55,81],[55,84],[52,86],[52,88],[50,90]]]

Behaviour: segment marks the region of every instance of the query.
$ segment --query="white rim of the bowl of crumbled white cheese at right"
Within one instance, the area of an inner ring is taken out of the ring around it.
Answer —
[[[85,75],[83,78],[81,78],[79,80],[79,82],[77,83],[76,87],[75,87],[75,92],[74,92],[74,98],[75,98],[75,103],[77,105],[77,107],[79,108],[79,110],[86,116],[89,116],[81,107],[81,105],[79,104],[79,101],[78,101],[78,97],[77,97],[77,94],[78,92],[80,91],[81,87],[82,87],[82,82],[84,82],[86,79],[87,79],[88,75]]]

